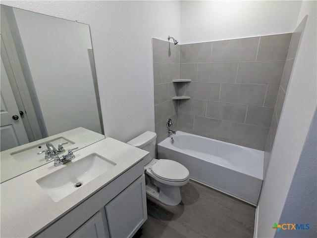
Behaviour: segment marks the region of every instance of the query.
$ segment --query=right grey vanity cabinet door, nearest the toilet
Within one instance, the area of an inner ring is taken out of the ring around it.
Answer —
[[[106,205],[111,238],[132,237],[147,220],[145,175]]]

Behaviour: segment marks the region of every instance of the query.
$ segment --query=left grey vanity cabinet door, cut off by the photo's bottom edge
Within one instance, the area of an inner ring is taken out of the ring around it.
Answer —
[[[105,224],[106,214],[102,209],[68,238],[109,238],[108,234],[106,236],[105,229],[107,230],[107,227]]]

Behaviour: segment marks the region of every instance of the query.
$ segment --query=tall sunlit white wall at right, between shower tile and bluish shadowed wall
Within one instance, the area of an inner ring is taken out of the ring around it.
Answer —
[[[274,222],[280,221],[281,212],[316,109],[316,11],[316,1],[303,1],[297,22],[300,22],[306,14],[309,16],[294,62],[259,201],[258,237],[274,237],[275,231],[271,227]],[[302,174],[297,176],[305,176],[305,171],[300,172]],[[293,188],[293,190],[296,189]],[[316,212],[316,207],[312,207],[312,212]],[[305,223],[305,221],[297,220],[285,222]],[[304,233],[302,235],[305,237]]]

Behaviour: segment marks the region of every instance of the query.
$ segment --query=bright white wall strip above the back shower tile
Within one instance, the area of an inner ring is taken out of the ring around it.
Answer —
[[[301,1],[182,1],[181,44],[293,32]]]

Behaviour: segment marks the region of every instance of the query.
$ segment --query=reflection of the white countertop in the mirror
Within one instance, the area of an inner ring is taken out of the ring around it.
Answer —
[[[81,149],[87,145],[105,139],[105,136],[97,132],[93,132],[88,129],[78,127],[67,132],[62,132],[35,142],[26,143],[11,149],[4,150],[0,153],[1,183],[48,163],[45,161],[45,153],[38,155],[35,152],[32,158],[26,158],[23,163],[21,161],[17,161],[14,158],[14,153],[16,153],[17,151],[22,151],[29,147],[51,142],[57,138],[65,138],[67,141],[72,142],[67,145],[64,145],[66,151],[62,154],[66,154],[67,150],[70,148],[78,147],[79,149]],[[57,144],[54,144],[54,146],[57,147]],[[41,151],[44,149],[46,149],[46,147],[38,150]]]

